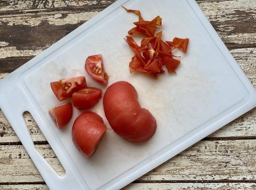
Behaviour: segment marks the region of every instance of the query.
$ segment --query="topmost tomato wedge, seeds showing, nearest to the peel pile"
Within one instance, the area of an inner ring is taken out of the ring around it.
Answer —
[[[101,54],[87,57],[85,70],[97,82],[104,85],[107,84],[108,75],[105,73]]]

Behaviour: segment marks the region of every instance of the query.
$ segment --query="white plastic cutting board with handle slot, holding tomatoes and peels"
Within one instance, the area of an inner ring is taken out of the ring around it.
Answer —
[[[163,30],[163,40],[190,38],[187,54],[173,52],[182,56],[176,75],[166,72],[155,80],[130,74],[134,53],[123,38],[138,18],[121,5],[139,9],[145,20],[160,15],[162,27],[157,31]],[[50,89],[50,82],[61,78],[84,75],[88,85],[105,92],[106,87],[84,69],[85,59],[94,54],[103,55],[109,84],[126,80],[135,87],[158,128],[144,143],[123,140],[111,130],[101,99],[91,110],[103,117],[109,130],[87,159],[71,139],[73,121],[81,112],[74,109],[72,121],[59,130],[48,110],[71,101],[59,102]],[[0,99],[5,100],[0,108],[51,190],[119,189],[256,106],[255,89],[194,0],[118,0],[3,79],[0,89]],[[66,176],[59,177],[35,150],[22,119],[24,111],[38,123]]]

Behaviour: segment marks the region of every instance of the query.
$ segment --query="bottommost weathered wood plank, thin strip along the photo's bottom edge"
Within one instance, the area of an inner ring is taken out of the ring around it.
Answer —
[[[122,190],[255,190],[255,183],[131,183]],[[49,190],[46,185],[2,185],[1,190]]]

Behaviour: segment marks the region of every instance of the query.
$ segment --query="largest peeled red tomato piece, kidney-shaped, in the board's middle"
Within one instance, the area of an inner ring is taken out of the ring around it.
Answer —
[[[105,116],[114,132],[135,143],[150,139],[157,127],[153,115],[140,107],[137,98],[135,88],[126,81],[110,85],[103,97]]]

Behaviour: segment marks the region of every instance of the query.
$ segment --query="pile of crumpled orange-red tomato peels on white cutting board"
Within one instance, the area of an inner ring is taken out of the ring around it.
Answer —
[[[165,71],[162,66],[165,65],[169,73],[175,73],[175,69],[181,63],[173,57],[179,58],[180,56],[174,56],[171,51],[179,49],[184,53],[187,52],[187,46],[189,38],[177,38],[172,41],[164,42],[162,40],[162,31],[155,34],[157,26],[162,26],[162,18],[160,16],[155,17],[151,21],[145,21],[139,10],[131,10],[123,7],[127,12],[132,12],[139,16],[138,22],[133,22],[136,26],[128,31],[129,35],[141,34],[146,36],[142,39],[140,46],[137,45],[135,40],[131,36],[126,36],[126,42],[130,49],[133,50],[135,56],[129,63],[130,73],[137,71],[143,74],[158,78],[158,74],[163,74]]]

